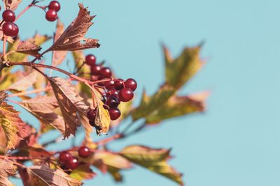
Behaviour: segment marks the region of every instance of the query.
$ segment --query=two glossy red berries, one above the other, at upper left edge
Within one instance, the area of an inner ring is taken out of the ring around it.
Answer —
[[[13,10],[4,10],[2,13],[4,24],[2,26],[3,34],[10,37],[18,36],[18,25],[15,24],[15,13]]]

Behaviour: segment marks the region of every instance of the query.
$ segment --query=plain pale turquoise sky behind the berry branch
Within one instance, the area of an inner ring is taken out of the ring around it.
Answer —
[[[170,164],[184,173],[188,186],[280,185],[278,0],[80,1],[97,15],[87,36],[102,44],[86,53],[106,60],[119,77],[137,79],[138,95],[144,87],[154,93],[163,81],[160,43],[176,56],[184,46],[205,41],[207,65],[181,94],[211,91],[207,112],[165,121],[112,148],[172,147]],[[76,17],[80,1],[59,1],[66,25]],[[51,34],[55,23],[44,17],[37,8],[23,15],[18,21],[22,38],[35,31]],[[176,185],[138,166],[123,173],[125,183],[119,185]],[[101,173],[85,183],[115,185]]]

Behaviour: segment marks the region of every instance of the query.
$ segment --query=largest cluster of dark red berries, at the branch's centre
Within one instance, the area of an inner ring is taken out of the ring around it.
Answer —
[[[104,108],[108,109],[111,120],[118,119],[121,114],[118,105],[120,102],[128,102],[132,100],[134,96],[133,92],[137,88],[137,82],[132,78],[126,80],[113,79],[111,69],[97,64],[96,57],[92,54],[85,57],[85,63],[90,65],[90,74],[94,79],[108,79],[108,81],[99,82],[98,84],[104,89],[102,102],[104,102]],[[93,127],[95,127],[95,116],[96,109],[90,109],[90,111],[87,112],[87,118],[90,121],[90,125]]]

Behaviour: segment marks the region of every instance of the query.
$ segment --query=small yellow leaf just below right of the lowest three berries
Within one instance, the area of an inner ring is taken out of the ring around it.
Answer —
[[[77,169],[74,169],[70,173],[71,178],[74,178],[76,180],[90,180],[96,176],[96,173],[90,169],[90,166],[88,164],[82,164],[78,166]]]

